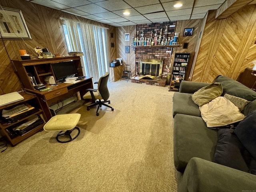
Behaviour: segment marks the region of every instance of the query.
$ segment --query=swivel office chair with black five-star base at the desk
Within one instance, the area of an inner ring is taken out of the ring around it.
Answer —
[[[94,82],[94,84],[98,84],[98,89],[92,89],[92,88],[86,89],[86,90],[88,90],[88,92],[83,96],[83,99],[92,99],[93,102],[95,102],[93,104],[88,105],[87,110],[90,110],[90,107],[92,107],[92,106],[98,105],[98,108],[96,111],[97,116],[99,116],[98,110],[102,105],[109,107],[109,108],[111,108],[112,111],[114,111],[114,108],[105,104],[107,102],[108,102],[108,104],[110,104],[110,100],[108,100],[108,98],[109,98],[109,91],[108,91],[108,86],[107,86],[108,76],[109,76],[109,73],[106,72],[106,74],[104,76],[102,76],[98,82]],[[102,101],[102,99],[104,101]]]

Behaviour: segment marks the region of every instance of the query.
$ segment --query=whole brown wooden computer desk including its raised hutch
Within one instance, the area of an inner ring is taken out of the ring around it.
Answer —
[[[73,60],[75,68],[77,69],[78,76],[84,76],[79,56],[68,56],[68,57],[56,57],[49,59],[33,59],[33,60],[12,60],[16,72],[20,77],[20,80],[24,86],[26,92],[35,94],[39,98],[39,102],[42,105],[46,120],[52,117],[50,112],[50,105],[68,98],[69,96],[78,94],[78,98],[86,93],[87,88],[93,88],[92,77],[85,77],[83,80],[78,81],[75,84],[61,83],[58,86],[54,86],[50,91],[38,91],[34,89],[30,76],[33,76],[37,84],[43,83],[46,76],[53,76],[55,81],[56,77],[52,70],[52,63],[58,63],[63,61]],[[52,87],[46,85],[46,87]]]

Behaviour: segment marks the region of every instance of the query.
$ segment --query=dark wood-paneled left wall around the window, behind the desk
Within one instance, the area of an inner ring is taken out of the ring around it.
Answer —
[[[0,94],[22,90],[22,85],[15,74],[10,60],[20,59],[18,50],[26,49],[31,56],[36,56],[34,47],[48,48],[52,54],[67,55],[68,49],[59,17],[77,20],[88,24],[95,24],[109,28],[108,46],[109,61],[116,58],[116,38],[110,38],[110,33],[116,35],[116,27],[92,21],[86,18],[68,14],[59,10],[34,4],[25,0],[0,0],[0,5],[22,11],[32,40],[1,40],[0,41]]]

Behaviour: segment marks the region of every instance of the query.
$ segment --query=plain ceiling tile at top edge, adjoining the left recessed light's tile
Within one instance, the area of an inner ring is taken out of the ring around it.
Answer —
[[[116,11],[116,10],[131,8],[131,6],[129,6],[126,2],[120,1],[120,0],[106,0],[106,1],[98,2],[96,4],[109,11]]]

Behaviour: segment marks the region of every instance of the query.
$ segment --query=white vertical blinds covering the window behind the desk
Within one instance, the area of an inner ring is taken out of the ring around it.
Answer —
[[[62,20],[68,51],[83,52],[81,62],[85,76],[98,81],[108,71],[107,28]]]

